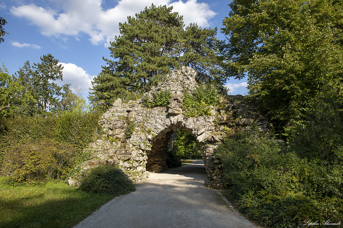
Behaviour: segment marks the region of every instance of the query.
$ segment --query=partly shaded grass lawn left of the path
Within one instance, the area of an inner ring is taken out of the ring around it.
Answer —
[[[53,183],[0,187],[0,227],[69,228],[114,198],[76,189]]]

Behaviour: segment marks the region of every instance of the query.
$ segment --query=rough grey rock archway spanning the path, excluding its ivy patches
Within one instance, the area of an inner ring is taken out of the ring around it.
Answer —
[[[249,104],[243,96],[226,96],[223,107],[213,107],[209,116],[186,118],[182,112],[185,90],[193,91],[197,83],[206,84],[210,78],[189,67],[182,67],[166,75],[163,82],[147,94],[157,90],[170,90],[167,107],[146,108],[141,100],[122,104],[118,99],[99,120],[102,139],[92,143],[88,150],[94,159],[81,166],[82,172],[96,165],[119,165],[134,180],[144,179],[149,172],[167,169],[166,153],[172,131],[182,128],[193,135],[200,144],[202,158],[211,182],[208,186],[221,185],[218,176],[221,168],[220,156],[215,149],[227,133],[234,135],[239,126],[246,127],[257,121],[261,131],[268,131],[270,123],[257,112],[256,105]],[[134,129],[133,129],[134,127]],[[131,133],[132,132],[132,133]],[[129,134],[131,133],[131,134]],[[79,173],[80,174],[80,173]],[[78,175],[69,179],[69,184],[78,184]]]

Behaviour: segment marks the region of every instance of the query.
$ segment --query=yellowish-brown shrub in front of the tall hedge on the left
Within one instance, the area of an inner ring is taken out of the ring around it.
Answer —
[[[10,176],[9,184],[35,185],[67,178],[74,164],[75,149],[70,144],[46,139],[11,147],[4,157],[2,173]]]

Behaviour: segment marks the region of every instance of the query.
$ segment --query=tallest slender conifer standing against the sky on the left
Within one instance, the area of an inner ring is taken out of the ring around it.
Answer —
[[[54,81],[62,80],[62,64],[58,64],[58,59],[55,59],[50,53],[40,57],[41,63],[33,66],[33,87],[37,91],[39,105],[42,110],[47,111],[47,107],[58,105],[57,96],[61,95],[62,87],[58,86]]]

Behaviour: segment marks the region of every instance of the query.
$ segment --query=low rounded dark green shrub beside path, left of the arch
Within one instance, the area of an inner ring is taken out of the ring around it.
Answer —
[[[110,193],[115,196],[135,191],[136,186],[125,173],[115,166],[98,166],[81,182],[80,189],[93,193]]]

